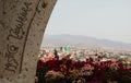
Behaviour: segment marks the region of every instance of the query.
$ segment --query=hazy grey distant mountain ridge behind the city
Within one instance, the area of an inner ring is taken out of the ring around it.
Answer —
[[[46,35],[41,46],[103,46],[120,49],[131,49],[131,44],[121,42],[112,42],[108,39],[97,39],[88,36],[81,35]]]

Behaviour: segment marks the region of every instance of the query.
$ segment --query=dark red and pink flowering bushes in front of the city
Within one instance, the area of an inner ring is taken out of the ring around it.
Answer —
[[[71,59],[48,61],[38,60],[38,83],[130,83],[131,68],[120,61],[97,61],[93,58],[86,61]]]

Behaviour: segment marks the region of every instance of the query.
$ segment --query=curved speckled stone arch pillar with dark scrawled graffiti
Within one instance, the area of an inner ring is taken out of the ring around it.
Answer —
[[[56,0],[0,0],[0,83],[34,83]]]

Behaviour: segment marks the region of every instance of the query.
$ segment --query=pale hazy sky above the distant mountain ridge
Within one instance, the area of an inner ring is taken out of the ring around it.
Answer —
[[[131,0],[58,0],[46,34],[131,43]]]

